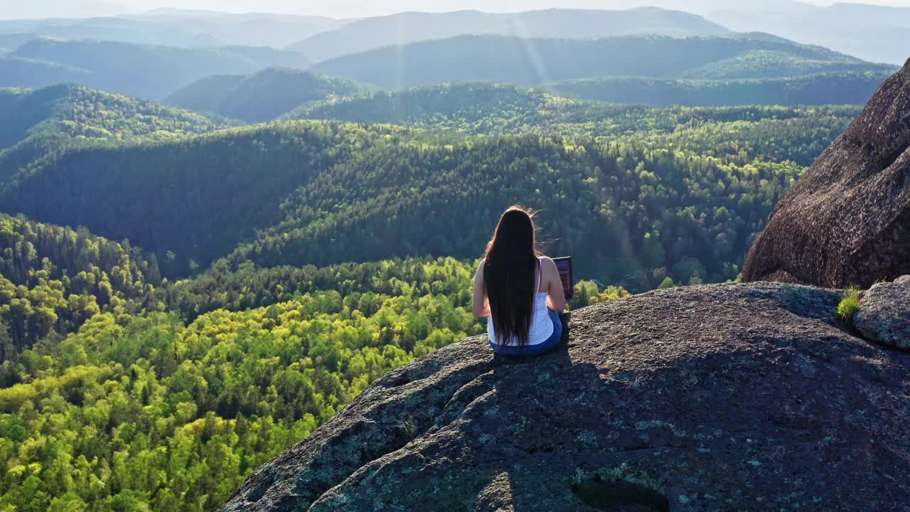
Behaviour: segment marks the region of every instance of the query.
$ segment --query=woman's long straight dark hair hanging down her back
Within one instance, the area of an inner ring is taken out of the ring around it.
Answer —
[[[515,337],[520,346],[528,344],[539,255],[533,212],[521,206],[506,210],[487,244],[483,263],[493,329],[500,338],[494,343],[508,343]]]

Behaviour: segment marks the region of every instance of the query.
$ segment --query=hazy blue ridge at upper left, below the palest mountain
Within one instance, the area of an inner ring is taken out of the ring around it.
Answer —
[[[14,61],[16,58],[56,65],[39,67],[34,62]],[[274,48],[179,48],[39,39],[20,46],[0,62],[17,69],[27,64],[41,73],[22,73],[16,76],[18,79],[0,74],[0,87],[45,87],[76,82],[129,96],[159,99],[202,77],[247,75],[295,61],[298,67],[308,67],[303,56]]]

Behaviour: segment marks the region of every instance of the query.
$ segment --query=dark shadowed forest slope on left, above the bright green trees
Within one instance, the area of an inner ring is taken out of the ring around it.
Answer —
[[[0,205],[159,254],[175,251],[185,273],[189,259],[206,265],[281,220],[282,198],[319,172],[402,131],[298,122],[74,148],[0,184]]]

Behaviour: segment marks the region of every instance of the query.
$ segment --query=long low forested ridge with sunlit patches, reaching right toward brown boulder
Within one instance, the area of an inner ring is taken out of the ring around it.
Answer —
[[[390,123],[437,133],[628,137],[708,155],[762,155],[808,166],[858,107],[650,108],[560,97],[483,82],[383,91],[300,108],[290,118]],[[786,140],[781,144],[780,140]]]

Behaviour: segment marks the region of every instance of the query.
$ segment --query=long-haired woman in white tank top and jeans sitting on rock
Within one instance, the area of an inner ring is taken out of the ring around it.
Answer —
[[[505,355],[551,351],[566,307],[556,263],[537,250],[531,211],[506,210],[474,276],[474,314],[489,317],[490,346]]]

